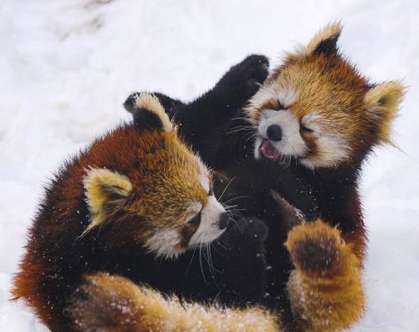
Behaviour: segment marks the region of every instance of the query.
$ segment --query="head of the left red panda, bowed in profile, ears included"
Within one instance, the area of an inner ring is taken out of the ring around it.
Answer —
[[[229,217],[210,172],[179,140],[156,97],[140,94],[133,117],[133,126],[98,140],[83,161],[91,217],[84,234],[106,225],[109,245],[133,241],[165,258],[212,242]]]

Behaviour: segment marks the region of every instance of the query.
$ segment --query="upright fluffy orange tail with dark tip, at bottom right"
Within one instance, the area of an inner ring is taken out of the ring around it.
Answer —
[[[286,247],[295,269],[287,282],[297,331],[341,331],[365,308],[358,259],[339,230],[317,220],[295,226]]]

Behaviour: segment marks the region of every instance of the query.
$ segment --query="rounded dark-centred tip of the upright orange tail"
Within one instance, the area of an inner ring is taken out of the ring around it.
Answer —
[[[339,230],[317,220],[295,226],[285,243],[293,264],[309,274],[322,276],[341,273],[350,247],[342,240]]]

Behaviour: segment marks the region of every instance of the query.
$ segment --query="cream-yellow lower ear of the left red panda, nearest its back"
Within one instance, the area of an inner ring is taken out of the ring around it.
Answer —
[[[128,201],[133,186],[131,181],[117,172],[105,168],[91,168],[84,178],[87,205],[91,213],[91,223],[83,232],[103,224],[107,215]]]

